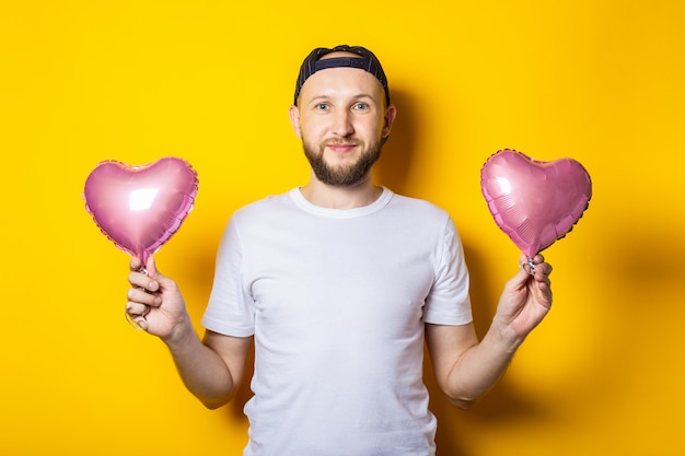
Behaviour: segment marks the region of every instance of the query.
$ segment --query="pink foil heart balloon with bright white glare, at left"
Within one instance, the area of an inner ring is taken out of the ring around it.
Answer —
[[[197,190],[197,173],[181,159],[105,161],[88,176],[83,199],[102,233],[144,265],[181,227]]]

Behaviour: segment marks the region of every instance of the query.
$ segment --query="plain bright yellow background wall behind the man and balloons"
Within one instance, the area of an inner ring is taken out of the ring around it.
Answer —
[[[195,210],[158,264],[197,321],[232,211],[309,176],[288,121],[300,62],[348,43],[378,54],[399,110],[379,182],[453,215],[480,331],[519,255],[485,160],[571,156],[594,182],[546,250],[555,307],[508,376],[469,412],[433,394],[439,455],[685,454],[683,4],[4,1],[0,452],[240,454],[247,393],[205,410],[127,325],[128,257],[83,184],[103,160],[194,165]]]

